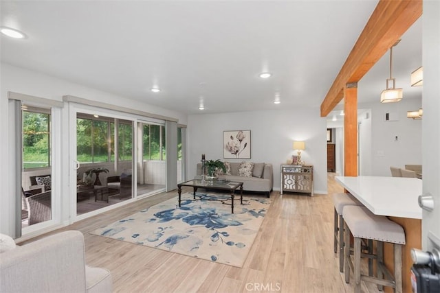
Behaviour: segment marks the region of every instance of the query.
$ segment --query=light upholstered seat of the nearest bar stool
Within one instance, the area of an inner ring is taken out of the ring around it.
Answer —
[[[366,207],[345,207],[342,218],[353,237],[405,244],[404,228],[383,215],[371,213]]]

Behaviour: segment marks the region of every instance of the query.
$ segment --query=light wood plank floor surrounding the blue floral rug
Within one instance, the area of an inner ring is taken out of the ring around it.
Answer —
[[[329,194],[342,192],[333,177],[329,173]],[[113,292],[353,292],[353,277],[351,284],[344,282],[333,253],[333,202],[328,195],[281,196],[273,191],[272,206],[243,268],[89,233],[173,197],[176,191],[138,200],[58,231],[84,233],[86,261],[111,271]],[[362,292],[378,291],[362,283]]]

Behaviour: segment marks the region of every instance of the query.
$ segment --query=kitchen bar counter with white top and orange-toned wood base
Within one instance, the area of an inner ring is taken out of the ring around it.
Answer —
[[[336,181],[347,189],[371,212],[386,215],[404,228],[406,244],[403,251],[403,289],[411,292],[411,248],[421,249],[421,208],[417,202],[422,194],[422,180],[418,178],[380,176],[336,176]],[[393,245],[384,244],[384,262],[394,272]],[[385,287],[385,292],[393,292]]]

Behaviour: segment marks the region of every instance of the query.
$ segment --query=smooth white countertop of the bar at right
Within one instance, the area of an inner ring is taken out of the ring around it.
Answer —
[[[350,194],[375,215],[421,219],[417,198],[422,194],[418,178],[380,176],[336,176]]]

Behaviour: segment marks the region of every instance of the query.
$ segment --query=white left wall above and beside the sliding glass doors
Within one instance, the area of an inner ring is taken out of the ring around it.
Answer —
[[[0,176],[3,178],[3,188],[0,194],[0,233],[13,235],[14,229],[13,221],[11,220],[14,215],[14,194],[15,186],[12,181],[13,172],[10,172],[12,165],[14,165],[13,156],[11,155],[14,150],[11,149],[9,141],[11,137],[10,132],[10,113],[8,110],[8,91],[16,93],[23,93],[26,95],[34,95],[36,97],[44,97],[47,99],[54,99],[56,101],[62,101],[63,95],[74,95],[77,97],[83,97],[98,102],[104,102],[107,104],[113,104],[115,106],[122,106],[125,108],[133,108],[137,110],[143,110],[148,113],[156,115],[163,115],[166,117],[173,117],[179,119],[179,124],[187,124],[187,117],[184,113],[179,113],[173,110],[165,108],[159,108],[157,106],[151,106],[146,103],[135,101],[129,97],[121,97],[104,91],[91,89],[87,86],[67,82],[59,78],[55,78],[43,73],[35,71],[29,71],[27,69],[21,69],[5,63],[0,63],[0,137],[8,138],[2,139],[0,142]],[[65,113],[65,112],[64,112]],[[67,117],[62,117],[63,124],[60,127],[65,134],[64,139],[68,139],[68,127]],[[64,152],[64,150],[63,150]],[[68,154],[63,153],[63,158],[67,158]],[[67,160],[68,162],[68,160]],[[8,167],[10,166],[10,167]],[[63,167],[66,169],[66,167]],[[67,172],[65,172],[67,174]],[[61,192],[68,192],[67,180],[62,178],[63,190]],[[67,190],[67,191],[66,191]],[[68,209],[62,208],[63,211]]]

